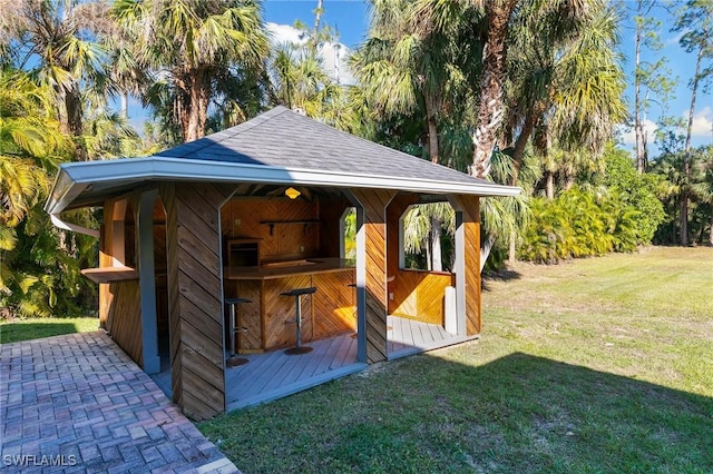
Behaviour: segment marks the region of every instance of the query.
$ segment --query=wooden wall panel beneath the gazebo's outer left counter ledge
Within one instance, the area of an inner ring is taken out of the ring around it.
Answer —
[[[138,280],[114,282],[107,294],[107,320],[105,328],[109,336],[144,367],[141,346],[141,292]]]

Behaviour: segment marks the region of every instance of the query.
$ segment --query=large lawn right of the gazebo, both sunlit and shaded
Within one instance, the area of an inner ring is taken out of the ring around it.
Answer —
[[[713,472],[713,249],[484,283],[479,342],[198,428],[244,472]]]

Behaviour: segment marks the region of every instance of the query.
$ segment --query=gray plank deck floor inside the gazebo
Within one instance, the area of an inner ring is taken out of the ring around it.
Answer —
[[[397,316],[389,316],[387,324],[390,361],[475,338],[453,336],[441,326]],[[241,355],[250,363],[227,368],[225,374],[227,411],[292,395],[368,366],[356,361],[356,339],[351,334],[306,345],[314,350],[296,356],[285,355],[283,350]],[[170,391],[168,371],[152,377],[164,392]]]

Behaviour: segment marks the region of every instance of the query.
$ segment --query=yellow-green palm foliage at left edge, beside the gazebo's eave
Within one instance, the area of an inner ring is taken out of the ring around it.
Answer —
[[[42,209],[57,162],[72,155],[53,118],[53,91],[0,70],[0,307],[4,316],[49,316],[81,303],[80,265],[95,241],[62,234]],[[74,216],[87,225],[88,213]],[[86,300],[84,300],[86,303]]]

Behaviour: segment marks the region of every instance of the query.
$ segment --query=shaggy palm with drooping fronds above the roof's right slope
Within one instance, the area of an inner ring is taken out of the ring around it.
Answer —
[[[465,109],[466,75],[453,29],[433,27],[433,12],[411,1],[374,2],[368,41],[351,58],[373,117],[422,120],[423,146],[441,162],[439,122],[458,121]]]

